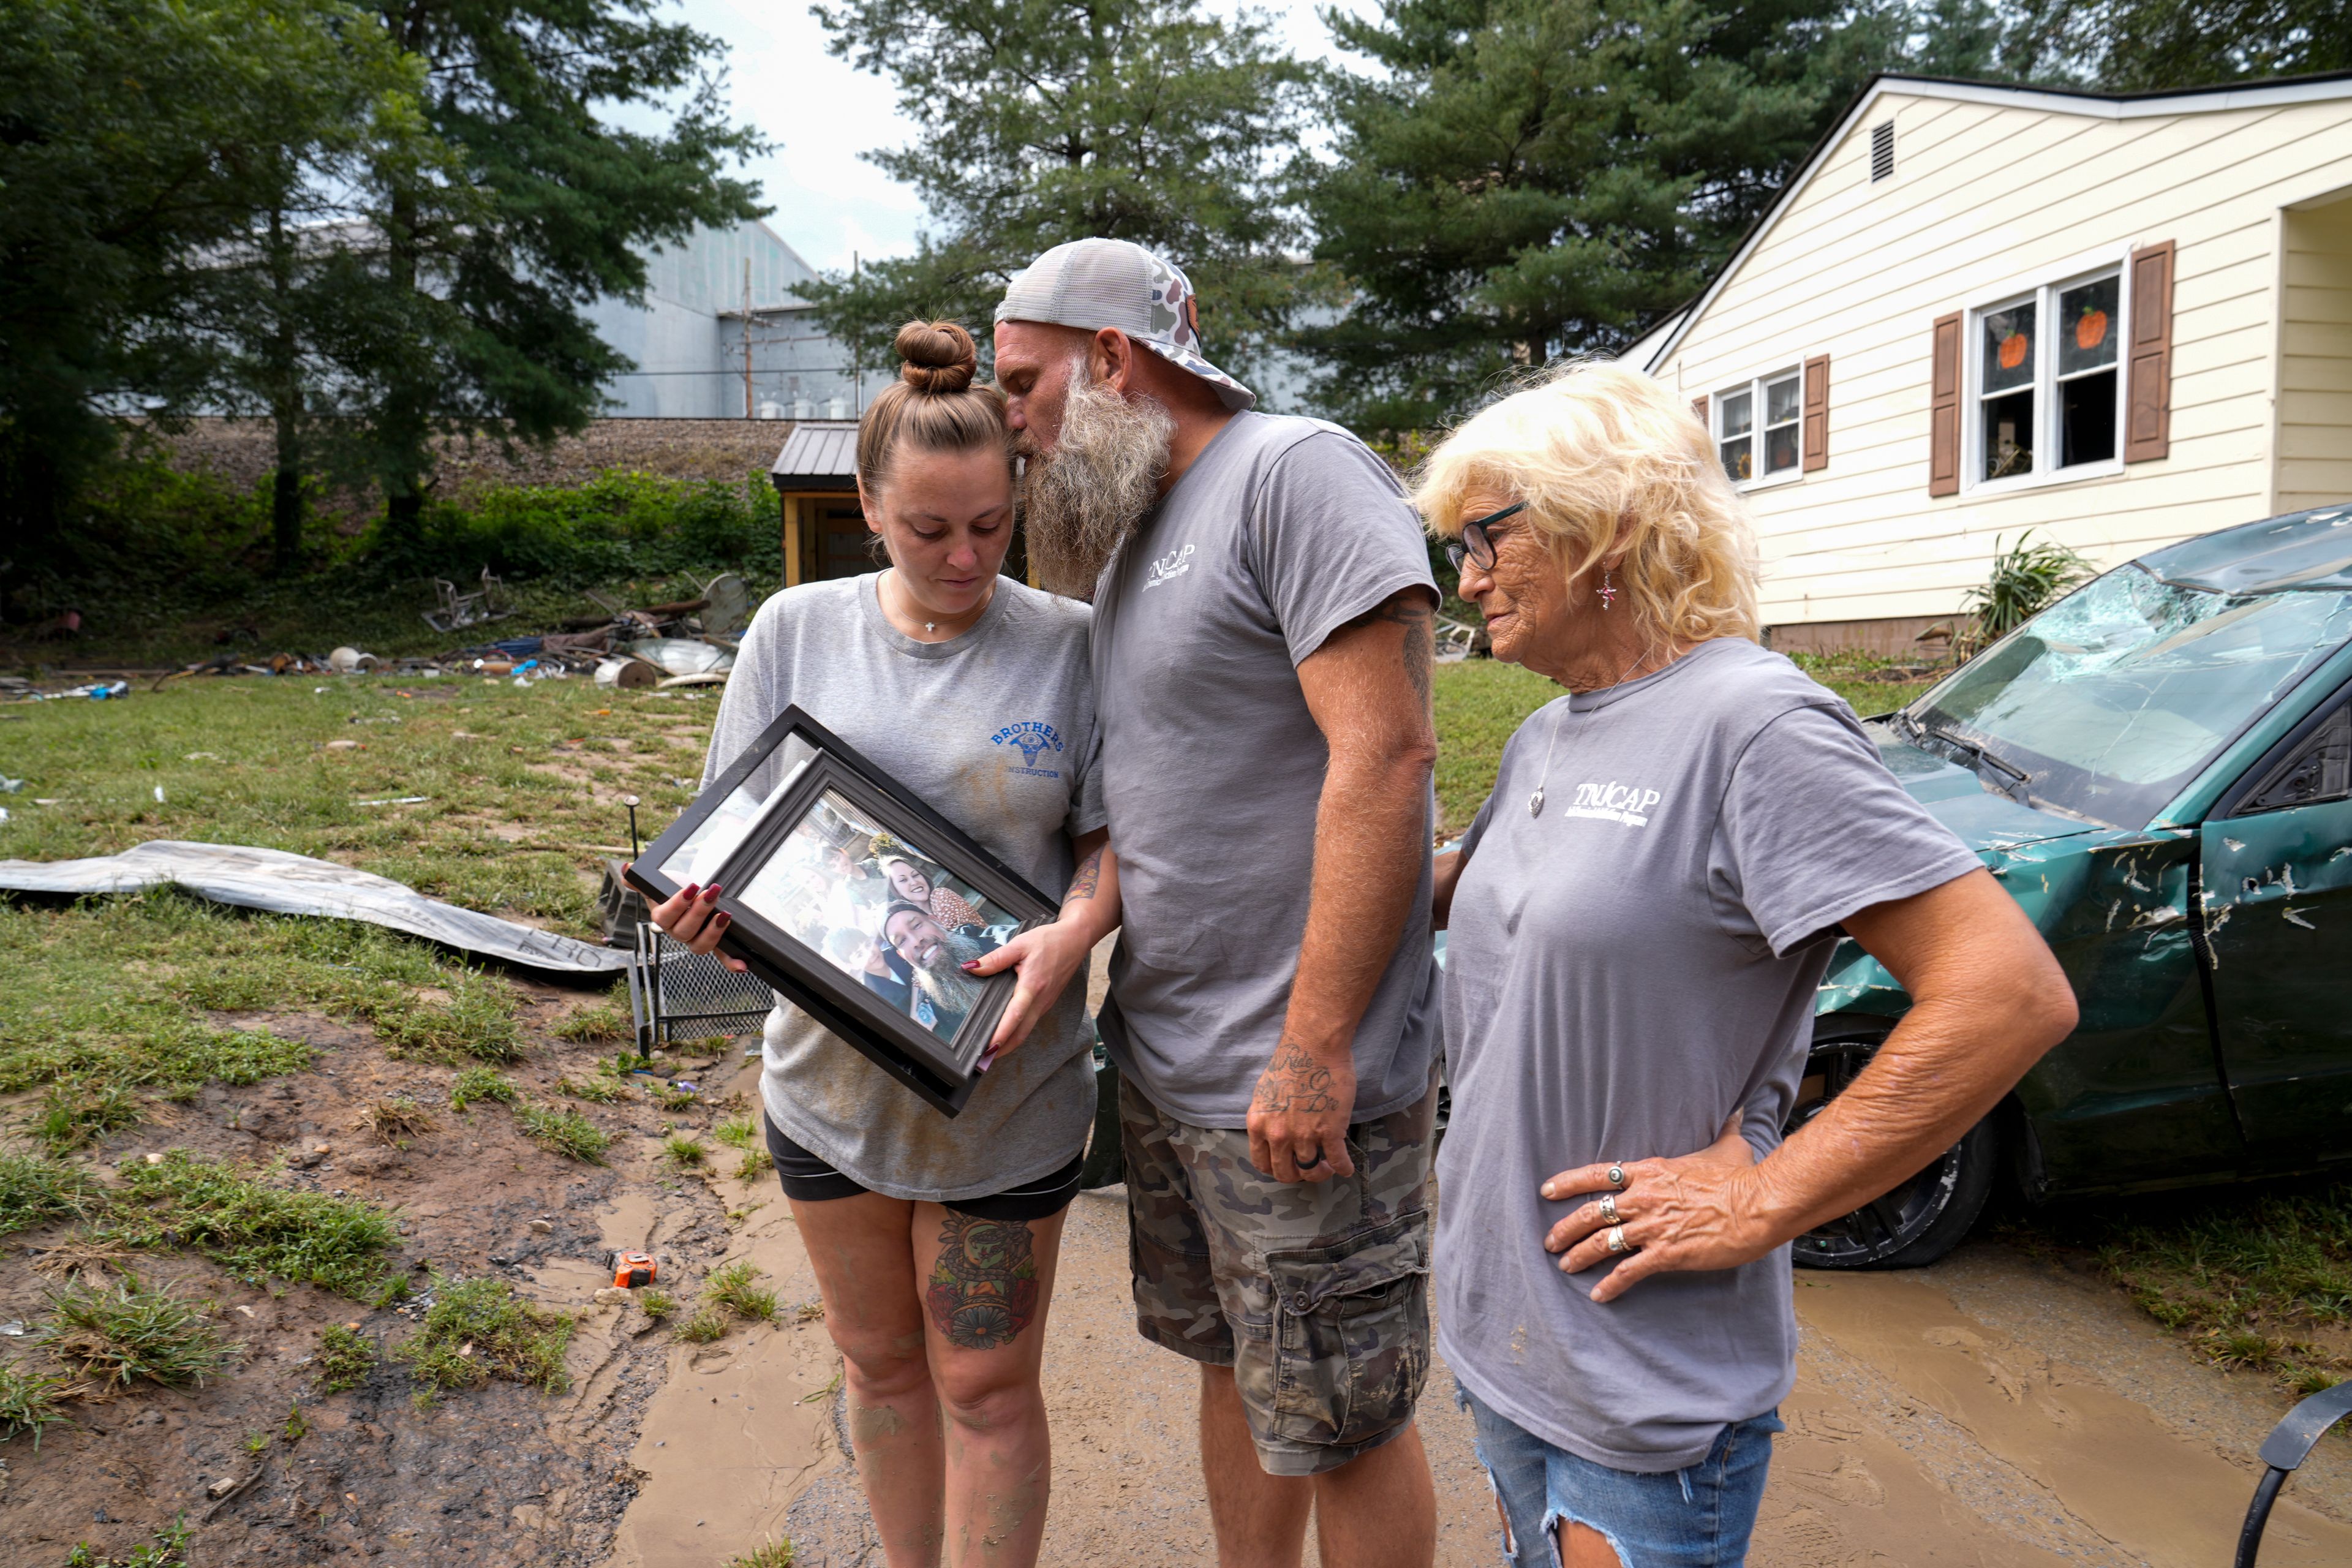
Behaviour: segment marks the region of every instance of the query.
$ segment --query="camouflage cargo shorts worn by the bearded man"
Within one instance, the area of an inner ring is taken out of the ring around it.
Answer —
[[[1127,1258],[1145,1340],[1230,1366],[1258,1462],[1336,1469],[1402,1434],[1430,1371],[1430,1117],[1348,1128],[1355,1175],[1284,1185],[1249,1133],[1190,1126],[1120,1081]]]

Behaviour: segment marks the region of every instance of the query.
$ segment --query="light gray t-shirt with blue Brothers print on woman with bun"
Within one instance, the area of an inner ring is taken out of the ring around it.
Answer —
[[[1058,900],[1070,839],[1103,825],[1087,607],[997,578],[969,632],[915,642],[882,618],[877,581],[804,583],[760,607],[703,783],[797,703]],[[1075,1159],[1094,1124],[1084,992],[1070,985],[955,1119],[779,1001],[760,1098],[786,1138],[875,1192],[946,1201],[1018,1187]]]

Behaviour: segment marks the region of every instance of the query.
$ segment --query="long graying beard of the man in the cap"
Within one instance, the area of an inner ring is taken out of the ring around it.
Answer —
[[[1103,564],[1134,534],[1169,470],[1176,421],[1155,400],[1129,402],[1070,369],[1054,451],[1028,458],[1023,520],[1030,569],[1058,595],[1091,599]]]

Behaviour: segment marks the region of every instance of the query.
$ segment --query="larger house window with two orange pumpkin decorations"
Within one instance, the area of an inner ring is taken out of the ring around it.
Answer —
[[[2114,463],[2122,317],[2122,270],[1976,313],[1978,484]]]

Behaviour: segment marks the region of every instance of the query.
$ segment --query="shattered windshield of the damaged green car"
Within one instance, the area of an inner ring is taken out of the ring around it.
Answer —
[[[2218,595],[2122,567],[1907,710],[2039,802],[2140,827],[2352,635],[2352,592]]]

